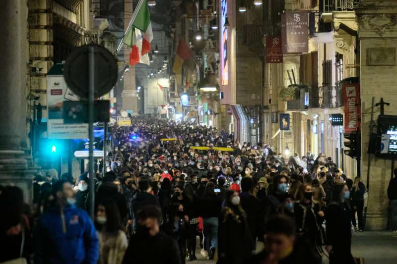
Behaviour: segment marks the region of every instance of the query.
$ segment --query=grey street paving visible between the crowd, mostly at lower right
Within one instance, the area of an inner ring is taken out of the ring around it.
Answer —
[[[259,244],[258,247],[262,245]],[[365,264],[397,264],[397,234],[391,231],[368,231],[353,234],[351,246],[353,257],[362,257]],[[197,250],[198,258],[192,264],[214,264],[208,261]],[[328,264],[328,260],[323,260],[323,264]]]

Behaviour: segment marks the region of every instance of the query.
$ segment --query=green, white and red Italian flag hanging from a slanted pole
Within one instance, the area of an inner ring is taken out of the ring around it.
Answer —
[[[151,51],[150,42],[153,40],[152,25],[150,23],[150,12],[147,0],[139,0],[136,6],[130,26],[123,39],[123,43],[130,46],[130,65],[144,63],[149,65]]]

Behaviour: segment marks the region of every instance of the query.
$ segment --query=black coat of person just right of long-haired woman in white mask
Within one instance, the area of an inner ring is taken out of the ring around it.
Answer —
[[[247,224],[250,228],[252,238],[257,239],[260,225],[260,201],[248,192],[240,194],[241,206],[247,213]]]

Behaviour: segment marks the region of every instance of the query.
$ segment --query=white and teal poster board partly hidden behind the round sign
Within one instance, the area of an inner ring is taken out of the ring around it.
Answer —
[[[88,124],[64,124],[64,101],[78,101],[79,97],[67,88],[63,68],[64,64],[55,64],[47,74],[48,138],[88,138]]]

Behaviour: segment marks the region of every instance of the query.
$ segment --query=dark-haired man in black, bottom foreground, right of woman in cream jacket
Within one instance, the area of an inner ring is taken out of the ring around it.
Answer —
[[[136,213],[136,232],[124,255],[123,264],[181,264],[175,239],[160,231],[161,211],[144,206]]]

